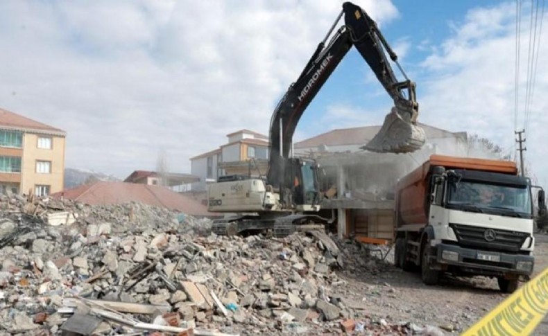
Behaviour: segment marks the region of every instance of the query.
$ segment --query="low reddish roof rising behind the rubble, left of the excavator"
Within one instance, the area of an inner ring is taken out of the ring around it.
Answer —
[[[207,206],[191,197],[175,193],[175,191],[171,191],[168,188],[148,186],[146,184],[98,181],[54,193],[51,197],[56,199],[63,197],[90,205],[140,202],[170,210],[181,211],[187,215],[216,215],[216,213],[207,211]]]

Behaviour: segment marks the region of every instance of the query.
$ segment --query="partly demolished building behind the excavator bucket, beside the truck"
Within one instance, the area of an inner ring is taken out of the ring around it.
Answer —
[[[322,215],[336,218],[339,237],[365,236],[391,241],[394,236],[394,187],[431,154],[471,154],[466,132],[419,124],[427,142],[407,154],[368,152],[363,145],[380,126],[332,130],[294,144],[294,154],[313,157],[323,174]]]

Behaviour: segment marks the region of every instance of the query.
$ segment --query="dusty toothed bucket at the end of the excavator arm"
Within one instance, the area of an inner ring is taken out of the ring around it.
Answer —
[[[379,132],[361,148],[379,153],[407,153],[420,149],[425,140],[425,131],[406,121],[393,107]]]

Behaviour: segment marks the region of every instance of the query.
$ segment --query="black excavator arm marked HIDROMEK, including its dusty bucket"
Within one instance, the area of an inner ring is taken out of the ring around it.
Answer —
[[[343,15],[345,24],[336,30],[326,45],[327,39]],[[394,101],[394,107],[386,116],[381,130],[363,148],[373,152],[401,153],[417,150],[425,143],[424,131],[416,126],[418,103],[415,84],[406,78],[405,74],[405,81],[397,81],[386,58],[385,49],[391,60],[396,62],[400,70],[402,68],[397,63],[397,55],[384,39],[377,24],[359,6],[345,2],[341,14],[325,39],[318,44],[305,69],[289,87],[273,113],[267,175],[269,184],[283,186],[284,170],[288,166],[293,133],[299,119],[352,46],[357,48]]]

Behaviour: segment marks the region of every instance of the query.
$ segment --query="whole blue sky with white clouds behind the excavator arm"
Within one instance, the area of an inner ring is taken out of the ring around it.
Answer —
[[[268,134],[275,105],[341,3],[3,0],[0,107],[65,130],[67,168],[124,178],[155,170],[164,156],[169,170],[190,173],[189,159],[219,148],[226,134],[244,128]],[[547,186],[542,1],[532,21],[531,1],[521,1],[519,76],[516,1],[354,3],[377,21],[417,83],[421,123],[478,134],[512,157],[514,131],[526,128],[526,164]],[[529,46],[538,62],[529,63]],[[534,81],[528,64],[536,65]],[[294,140],[379,125],[391,106],[351,50],[302,116]]]

